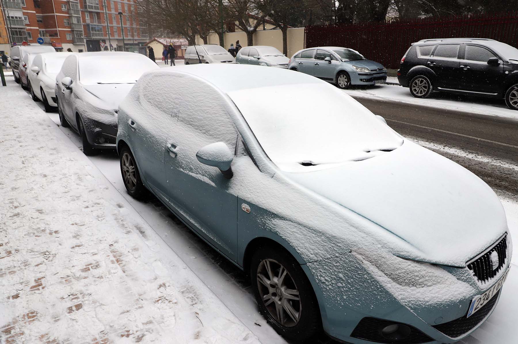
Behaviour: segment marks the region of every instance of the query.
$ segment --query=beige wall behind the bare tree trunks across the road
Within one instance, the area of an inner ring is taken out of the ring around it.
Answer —
[[[247,34],[244,32],[229,32],[225,33],[225,49],[230,48],[230,44],[239,40],[239,44],[247,46]],[[208,37],[209,44],[219,44],[218,35],[211,33]],[[203,40],[196,36],[196,43],[203,44]],[[292,57],[300,49],[304,49],[304,27],[295,27],[288,29],[287,36],[288,43],[288,57]],[[270,45],[282,51],[282,32],[279,29],[275,30],[257,30],[254,34],[254,45]],[[156,54],[156,53],[155,53]]]

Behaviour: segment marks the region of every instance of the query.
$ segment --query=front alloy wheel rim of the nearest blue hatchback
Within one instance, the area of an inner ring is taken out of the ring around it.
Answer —
[[[257,288],[270,315],[281,325],[295,326],[302,311],[297,286],[281,263],[264,259],[257,269]]]

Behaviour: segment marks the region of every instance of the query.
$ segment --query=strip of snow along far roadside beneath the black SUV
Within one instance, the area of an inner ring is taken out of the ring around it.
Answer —
[[[388,78],[387,78],[388,79]],[[397,79],[396,79],[397,80]],[[344,90],[355,98],[369,98],[385,101],[409,103],[472,114],[498,116],[518,120],[518,111],[510,110],[503,99],[480,97],[459,97],[447,93],[434,92],[430,98],[414,98],[408,87],[380,84],[371,87],[358,87]]]

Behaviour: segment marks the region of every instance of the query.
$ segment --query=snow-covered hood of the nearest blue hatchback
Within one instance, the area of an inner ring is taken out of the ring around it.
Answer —
[[[363,161],[284,174],[421,253],[399,255],[402,258],[465,267],[507,230],[503,208],[489,186],[464,167],[408,140]]]

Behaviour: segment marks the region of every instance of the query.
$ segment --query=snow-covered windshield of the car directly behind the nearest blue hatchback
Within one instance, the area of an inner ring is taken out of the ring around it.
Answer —
[[[136,53],[135,56],[109,53],[82,56],[79,58],[79,81],[83,85],[134,84],[142,73],[158,68],[149,58]]]

